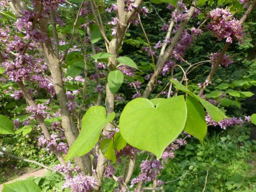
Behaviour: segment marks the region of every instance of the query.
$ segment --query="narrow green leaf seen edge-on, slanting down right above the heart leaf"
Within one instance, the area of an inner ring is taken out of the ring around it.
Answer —
[[[214,120],[214,121],[221,121],[224,118],[228,118],[226,117],[226,115],[220,111],[220,109],[214,105],[212,105],[211,103],[209,103],[208,101],[204,100],[202,97],[199,97],[197,95],[195,95],[194,93],[192,93],[191,91],[189,91],[188,89],[186,89],[186,87],[184,87],[182,84],[180,84],[178,81],[175,81],[173,79],[170,79],[170,81],[175,84],[176,88],[188,93],[189,95],[191,95],[192,97],[195,97],[195,99],[197,99],[206,109],[206,111],[208,112],[208,114],[210,115],[210,117]]]

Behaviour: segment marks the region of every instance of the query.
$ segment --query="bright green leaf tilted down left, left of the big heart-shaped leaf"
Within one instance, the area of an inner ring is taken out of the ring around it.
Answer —
[[[101,130],[112,121],[115,112],[106,117],[103,106],[92,106],[88,109],[81,122],[81,132],[68,150],[65,160],[90,152],[99,140]]]

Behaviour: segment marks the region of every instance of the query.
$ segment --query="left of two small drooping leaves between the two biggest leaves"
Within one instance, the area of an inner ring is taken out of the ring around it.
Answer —
[[[101,152],[105,158],[111,160],[113,163],[117,160],[115,157],[115,149],[113,144],[113,139],[103,139],[101,141]]]

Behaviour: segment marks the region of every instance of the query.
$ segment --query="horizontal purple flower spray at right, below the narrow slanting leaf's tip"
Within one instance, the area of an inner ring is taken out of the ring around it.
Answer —
[[[242,125],[245,121],[242,120],[242,118],[232,117],[232,118],[225,118],[219,122],[213,121],[209,114],[206,114],[205,117],[206,123],[208,126],[220,126],[220,128],[223,128],[224,130],[227,127],[233,127],[236,125]]]

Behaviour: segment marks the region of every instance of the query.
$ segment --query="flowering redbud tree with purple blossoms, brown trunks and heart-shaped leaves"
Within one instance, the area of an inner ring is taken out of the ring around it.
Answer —
[[[0,3],[1,17],[8,18],[0,24],[1,83],[10,98],[26,103],[14,117],[0,115],[0,133],[37,131],[38,146],[55,155],[54,170],[65,175],[63,188],[100,191],[107,177],[118,183],[115,191],[142,191],[148,183],[153,183],[152,190],[162,189],[164,181],[157,177],[186,138],[203,143],[207,126],[225,129],[255,123],[255,115],[229,118],[218,108],[219,98],[227,102],[227,95],[245,98],[251,92],[224,93],[229,87],[225,84],[204,92],[218,68],[232,65],[226,52],[231,44],[243,43],[244,22],[256,0]],[[157,13],[158,4],[166,6],[167,22]],[[238,11],[241,18],[235,16]],[[152,12],[159,17],[150,18]],[[143,18],[161,21],[157,30],[164,38],[151,42]],[[127,40],[135,27],[144,40]],[[186,50],[204,32],[225,45],[209,53],[207,61],[191,64]],[[124,52],[127,42],[136,45],[138,53]],[[208,76],[189,89],[187,75],[203,64],[210,64]],[[123,105],[116,111],[118,103]],[[139,154],[147,158],[134,177]],[[117,175],[115,168],[120,166],[123,173]]]

